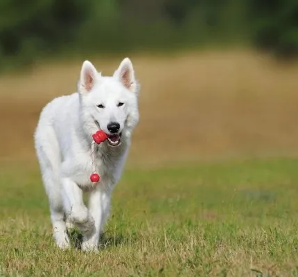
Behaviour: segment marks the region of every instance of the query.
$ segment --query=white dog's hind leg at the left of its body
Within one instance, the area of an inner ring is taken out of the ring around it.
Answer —
[[[55,132],[51,127],[37,129],[35,148],[40,162],[44,188],[49,198],[53,237],[58,247],[67,249],[70,247],[70,244],[61,195],[60,151]]]

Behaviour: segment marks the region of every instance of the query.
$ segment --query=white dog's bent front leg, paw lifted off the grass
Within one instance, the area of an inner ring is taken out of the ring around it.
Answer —
[[[82,198],[82,190],[69,178],[62,179],[64,207],[69,213],[69,220],[76,224],[82,233],[92,232],[94,219],[90,215]]]

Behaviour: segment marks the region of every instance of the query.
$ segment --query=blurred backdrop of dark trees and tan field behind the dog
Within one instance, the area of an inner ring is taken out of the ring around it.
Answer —
[[[42,107],[73,93],[83,60],[129,56],[141,122],[128,164],[295,155],[298,2],[3,0],[1,159],[33,161]]]

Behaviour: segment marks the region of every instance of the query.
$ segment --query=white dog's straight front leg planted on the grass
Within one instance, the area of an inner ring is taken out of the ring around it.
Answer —
[[[98,187],[91,192],[89,197],[89,213],[94,218],[94,229],[91,233],[84,236],[82,250],[98,251],[100,232],[103,230],[103,225],[107,220],[109,203],[110,193],[107,193],[103,188]]]

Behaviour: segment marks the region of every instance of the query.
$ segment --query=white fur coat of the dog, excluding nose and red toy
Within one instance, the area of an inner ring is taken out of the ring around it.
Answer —
[[[78,92],[49,102],[40,114],[35,131],[35,150],[49,197],[53,237],[62,248],[70,247],[67,226],[76,224],[83,234],[82,250],[98,251],[100,233],[109,214],[110,199],[139,122],[139,86],[129,58],[114,75],[104,77],[91,62],[82,64]],[[124,105],[119,107],[119,102]],[[103,106],[99,106],[103,105]],[[91,183],[92,134],[110,134],[107,125],[120,124],[121,144],[107,141],[96,146],[99,183]],[[82,199],[89,192],[89,207]]]

